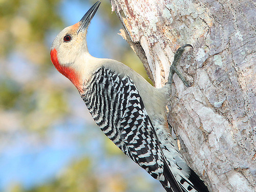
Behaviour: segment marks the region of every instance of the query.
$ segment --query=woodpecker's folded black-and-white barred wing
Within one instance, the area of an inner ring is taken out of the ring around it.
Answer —
[[[81,95],[100,129],[152,177],[164,181],[164,160],[132,80],[100,68]]]

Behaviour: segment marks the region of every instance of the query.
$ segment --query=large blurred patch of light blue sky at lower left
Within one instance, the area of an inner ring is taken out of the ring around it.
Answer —
[[[8,144],[0,157],[0,188],[13,183],[25,187],[44,183],[71,159],[86,154],[86,149],[75,139],[81,128],[84,129],[83,123],[72,124],[72,130],[52,127],[45,138],[30,132],[10,133],[13,143]],[[36,146],[31,139],[39,141]]]

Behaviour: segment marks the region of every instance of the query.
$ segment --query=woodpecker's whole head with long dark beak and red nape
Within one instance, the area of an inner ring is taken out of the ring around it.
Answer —
[[[75,25],[63,29],[54,39],[51,47],[51,60],[55,68],[81,89],[81,69],[79,59],[88,53],[86,35],[88,26],[95,15],[100,2],[96,2]],[[89,53],[88,53],[89,54]]]

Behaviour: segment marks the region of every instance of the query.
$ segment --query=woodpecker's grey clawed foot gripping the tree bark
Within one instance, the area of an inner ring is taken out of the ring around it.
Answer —
[[[174,54],[174,61],[172,63],[172,65],[170,66],[170,72],[169,72],[169,77],[168,77],[168,84],[172,84],[173,83],[173,76],[176,73],[180,79],[182,80],[182,82],[185,84],[185,86],[191,87],[191,83],[189,83],[185,77],[183,77],[182,73],[177,69],[177,65],[180,61],[180,58],[182,56],[182,53],[185,51],[186,47],[191,47],[193,49],[193,47],[189,44],[185,44],[184,46],[180,47],[176,53]]]

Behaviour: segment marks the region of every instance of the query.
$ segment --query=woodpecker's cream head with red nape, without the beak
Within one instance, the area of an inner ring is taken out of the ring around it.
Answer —
[[[80,29],[79,22],[63,29],[54,39],[51,48],[51,59],[55,68],[69,78],[80,89],[93,71],[100,65],[101,59],[88,52],[87,28]],[[67,36],[69,36],[67,38]],[[80,89],[81,90],[81,89]]]

